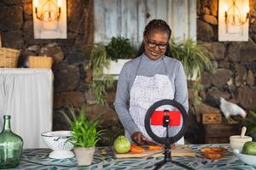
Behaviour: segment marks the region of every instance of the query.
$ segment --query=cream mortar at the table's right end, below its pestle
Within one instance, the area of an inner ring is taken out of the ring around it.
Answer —
[[[248,141],[252,141],[252,137],[250,136],[244,136],[241,138],[240,135],[234,135],[234,136],[230,136],[230,147],[233,150],[241,150],[243,144],[245,144]]]

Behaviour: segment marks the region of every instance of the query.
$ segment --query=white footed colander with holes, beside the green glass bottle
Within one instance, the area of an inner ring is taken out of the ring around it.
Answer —
[[[44,143],[53,150],[49,153],[50,158],[65,159],[74,156],[73,144],[67,141],[72,136],[71,131],[53,131],[42,133],[41,136],[44,139]]]

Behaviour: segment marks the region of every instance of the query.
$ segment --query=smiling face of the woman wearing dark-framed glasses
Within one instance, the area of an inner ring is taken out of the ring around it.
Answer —
[[[165,31],[152,30],[143,38],[145,54],[149,59],[160,59],[166,53],[168,34]]]

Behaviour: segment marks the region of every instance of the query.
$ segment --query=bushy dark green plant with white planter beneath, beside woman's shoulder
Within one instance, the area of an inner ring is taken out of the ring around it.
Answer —
[[[103,68],[103,73],[108,75],[119,75],[125,63],[131,60],[137,53],[130,40],[125,37],[112,37],[106,46],[107,57],[111,59],[108,67]]]

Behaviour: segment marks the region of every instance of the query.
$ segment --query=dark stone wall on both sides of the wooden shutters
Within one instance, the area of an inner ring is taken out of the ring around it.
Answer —
[[[197,39],[212,52],[212,65],[215,68],[214,72],[204,72],[201,79],[204,90],[199,95],[207,109],[209,106],[218,108],[221,96],[246,110],[256,110],[256,0],[250,0],[250,7],[253,16],[250,20],[250,41],[218,42],[218,0],[197,0]],[[54,57],[54,130],[67,129],[67,123],[58,113],[60,109],[66,109],[65,105],[81,107],[87,104],[90,116],[101,114],[102,127],[108,129],[102,144],[112,144],[114,137],[123,132],[113,110],[114,89],[108,92],[107,106],[96,105],[94,96],[88,91],[87,73],[84,70],[88,59],[80,53],[84,45],[93,42],[93,1],[67,0],[67,39],[63,40],[33,38],[32,0],[2,0],[0,9],[3,47],[21,50],[19,67],[27,66],[29,55]],[[190,88],[189,99],[194,95]],[[193,110],[195,115],[201,108]],[[196,128],[192,126],[189,129],[196,133]],[[192,138],[195,139],[195,136]]]

